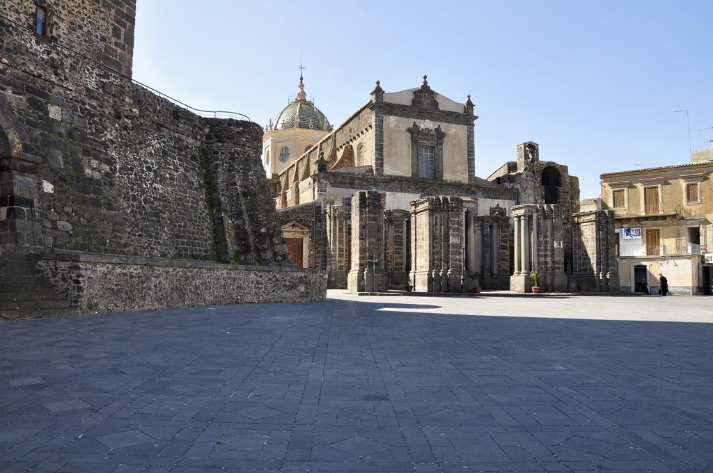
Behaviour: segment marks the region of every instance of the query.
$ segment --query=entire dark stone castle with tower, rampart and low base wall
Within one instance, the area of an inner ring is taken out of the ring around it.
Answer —
[[[0,309],[22,318],[324,298],[322,274],[289,264],[262,128],[202,118],[127,76],[133,5],[50,1],[49,37],[29,29],[35,2],[0,6],[0,266],[24,259],[71,303],[51,313],[5,298]],[[92,36],[122,22],[115,42]],[[125,61],[111,52],[122,41]]]

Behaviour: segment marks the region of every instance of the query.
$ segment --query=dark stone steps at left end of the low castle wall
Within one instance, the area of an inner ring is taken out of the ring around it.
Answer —
[[[0,319],[53,317],[76,313],[70,301],[36,268],[41,255],[7,247],[0,254]]]

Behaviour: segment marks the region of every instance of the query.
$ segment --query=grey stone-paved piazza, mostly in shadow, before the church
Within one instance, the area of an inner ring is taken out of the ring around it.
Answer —
[[[710,472],[713,298],[347,296],[0,323],[1,472]]]

